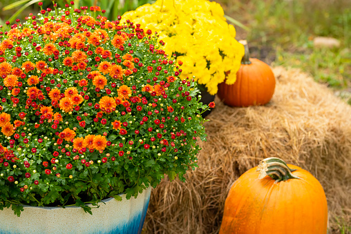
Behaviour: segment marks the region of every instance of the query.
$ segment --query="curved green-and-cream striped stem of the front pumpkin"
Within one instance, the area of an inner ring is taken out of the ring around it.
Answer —
[[[278,157],[268,157],[263,159],[257,166],[257,171],[260,172],[258,179],[263,179],[266,175],[275,179],[276,182],[286,181],[287,179],[300,179],[292,172],[296,169],[291,169],[285,162]]]

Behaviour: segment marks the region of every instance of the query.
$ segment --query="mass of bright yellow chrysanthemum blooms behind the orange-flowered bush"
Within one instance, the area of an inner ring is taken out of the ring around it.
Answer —
[[[216,94],[223,81],[234,84],[244,48],[236,41],[235,28],[227,23],[220,4],[207,0],[158,0],[126,12],[122,19],[160,34],[165,52],[178,55],[177,60],[183,62],[181,79],[195,76],[211,95]]]

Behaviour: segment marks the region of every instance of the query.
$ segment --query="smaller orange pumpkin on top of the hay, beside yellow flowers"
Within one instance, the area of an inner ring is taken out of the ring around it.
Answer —
[[[218,85],[218,97],[228,106],[264,105],[272,98],[276,79],[272,69],[263,61],[249,58],[246,41],[240,41],[245,47],[245,55],[236,73],[234,84],[225,82]]]

